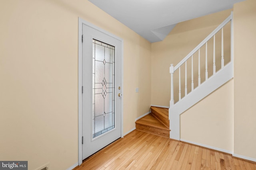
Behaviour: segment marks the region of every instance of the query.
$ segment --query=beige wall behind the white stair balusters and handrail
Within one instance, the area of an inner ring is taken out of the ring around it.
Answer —
[[[231,10],[210,14],[193,20],[178,23],[164,41],[152,43],[152,94],[151,104],[169,106],[170,101],[170,64],[178,64],[192,51],[207,35],[209,35],[231,13]],[[216,35],[216,70],[220,68],[221,33]],[[217,41],[218,40],[218,41]],[[224,29],[225,63],[230,61],[230,25]],[[208,76],[212,74],[213,39],[208,42]],[[226,50],[227,49],[227,50]],[[205,46],[201,49],[201,82],[205,80]],[[188,61],[188,92],[191,90],[191,59]],[[185,68],[182,65],[182,83],[184,84]],[[182,84],[182,85],[183,85]],[[198,85],[198,52],[194,55],[194,87]],[[178,101],[178,70],[174,73],[174,100]],[[182,86],[184,96],[184,86]]]

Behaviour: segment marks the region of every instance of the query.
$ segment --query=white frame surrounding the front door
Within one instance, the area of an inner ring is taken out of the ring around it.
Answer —
[[[113,37],[115,39],[118,39],[121,41],[121,84],[122,89],[121,93],[123,93],[123,85],[124,85],[124,60],[123,60],[123,54],[124,54],[124,42],[123,39],[120,37],[117,37],[116,35],[109,33],[108,31],[105,31],[104,29],[101,29],[100,27],[97,27],[93,25],[92,23],[89,23],[81,18],[78,18],[78,164],[82,164],[82,25],[88,25],[89,27],[92,27],[94,29],[97,29],[98,31],[105,33],[106,35],[109,35],[110,37]],[[121,101],[121,137],[124,137],[123,135],[123,100]]]

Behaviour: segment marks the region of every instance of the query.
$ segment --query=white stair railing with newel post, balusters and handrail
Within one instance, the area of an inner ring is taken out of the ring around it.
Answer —
[[[185,63],[185,96],[186,97],[188,95],[187,92],[187,61],[188,59],[191,58],[191,92],[194,90],[194,73],[193,73],[193,55],[198,51],[198,87],[201,85],[201,75],[200,75],[200,49],[203,45],[206,46],[206,68],[205,68],[205,80],[208,80],[208,59],[207,59],[207,46],[208,46],[208,41],[213,37],[213,75],[216,74],[216,49],[215,49],[215,35],[218,31],[221,30],[221,68],[224,68],[224,32],[223,32],[223,27],[228,23],[231,22],[231,34],[232,34],[232,13],[230,16],[228,16],[228,18],[226,18],[226,20],[224,20],[216,29],[214,29],[214,31],[212,31],[212,33],[210,33],[210,35],[208,35],[198,46],[196,46],[196,48],[194,48],[184,59],[182,59],[182,61],[180,61],[180,63],[178,63],[175,67],[173,64],[171,64],[170,66],[170,74],[171,74],[171,99],[170,99],[170,107],[174,106],[174,78],[173,78],[173,74],[176,70],[179,70],[179,101],[181,100],[181,78],[180,78],[180,67],[182,66],[182,64]],[[232,50],[232,36],[231,36],[231,53],[230,53],[230,61],[233,61],[233,50]]]

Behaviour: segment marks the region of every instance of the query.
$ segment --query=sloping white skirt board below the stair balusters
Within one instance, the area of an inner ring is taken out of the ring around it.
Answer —
[[[212,75],[169,109],[170,138],[180,140],[180,114],[233,78],[233,62]]]

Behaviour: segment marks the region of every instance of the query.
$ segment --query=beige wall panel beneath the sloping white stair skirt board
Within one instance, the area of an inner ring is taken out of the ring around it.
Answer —
[[[181,139],[233,151],[233,79],[180,115]]]

